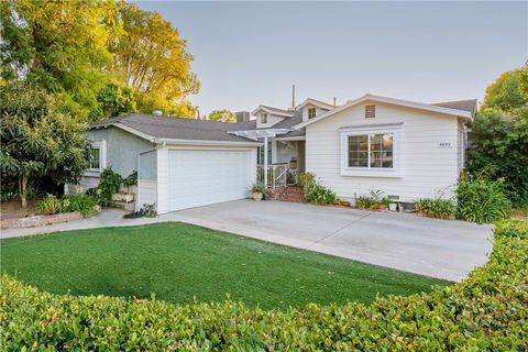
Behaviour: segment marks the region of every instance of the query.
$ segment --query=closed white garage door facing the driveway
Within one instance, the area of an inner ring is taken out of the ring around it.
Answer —
[[[168,211],[246,198],[252,163],[251,151],[169,151]]]

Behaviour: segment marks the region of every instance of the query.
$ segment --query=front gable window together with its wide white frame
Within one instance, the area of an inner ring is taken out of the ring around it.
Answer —
[[[398,177],[399,128],[350,128],[341,131],[341,175]]]

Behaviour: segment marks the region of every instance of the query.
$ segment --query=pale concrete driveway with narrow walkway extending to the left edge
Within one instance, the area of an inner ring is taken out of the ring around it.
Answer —
[[[371,212],[280,201],[238,200],[155,219],[122,219],[123,211],[44,228],[2,230],[0,238],[184,221],[267,242],[332,254],[406,272],[461,280],[486,263],[492,227],[413,215]]]

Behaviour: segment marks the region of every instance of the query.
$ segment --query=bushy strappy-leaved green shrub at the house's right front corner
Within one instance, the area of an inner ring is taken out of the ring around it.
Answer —
[[[477,223],[504,219],[512,204],[503,191],[503,182],[483,176],[462,176],[457,188],[458,218]]]

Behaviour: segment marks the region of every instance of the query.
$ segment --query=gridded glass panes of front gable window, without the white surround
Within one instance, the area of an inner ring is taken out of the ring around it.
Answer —
[[[349,136],[349,167],[393,167],[393,133]]]

